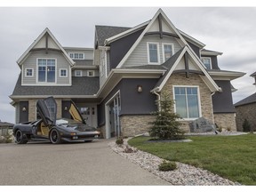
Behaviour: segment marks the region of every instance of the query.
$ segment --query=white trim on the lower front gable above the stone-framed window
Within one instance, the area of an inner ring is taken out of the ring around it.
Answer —
[[[170,78],[170,76],[172,76],[172,72],[174,71],[174,69],[179,64],[179,62],[182,59],[182,57],[184,56],[185,52],[188,52],[188,54],[190,55],[192,60],[194,60],[196,62],[196,65],[198,66],[198,68],[200,68],[200,70],[204,73],[204,76],[201,76],[201,78],[203,79],[204,83],[209,87],[211,92],[218,92],[220,90],[219,86],[214,82],[214,80],[209,75],[209,73],[206,71],[206,69],[203,67],[203,65],[196,59],[196,57],[193,54],[193,52],[191,52],[189,46],[186,46],[183,49],[183,51],[180,52],[179,58],[175,61],[175,63],[173,64],[172,68],[168,71],[168,74],[164,77],[163,82],[159,85],[159,87],[157,87],[157,91],[161,92],[161,90],[164,87],[164,84],[166,84],[167,80]]]

